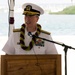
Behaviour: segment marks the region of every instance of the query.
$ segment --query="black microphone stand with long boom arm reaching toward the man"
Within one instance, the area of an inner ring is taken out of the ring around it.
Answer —
[[[64,52],[65,52],[65,75],[67,75],[67,51],[68,51],[68,48],[69,49],[74,49],[73,47],[71,46],[68,46],[68,45],[65,45],[64,43],[59,43],[59,42],[56,42],[56,41],[52,41],[52,40],[48,40],[48,39],[45,39],[45,38],[42,38],[42,37],[39,37],[39,36],[35,36],[35,35],[32,35],[31,33],[29,33],[30,36],[34,37],[34,38],[40,38],[40,39],[43,39],[45,41],[48,41],[48,42],[52,42],[52,43],[55,43],[55,44],[58,44],[58,45],[61,45],[64,47]]]

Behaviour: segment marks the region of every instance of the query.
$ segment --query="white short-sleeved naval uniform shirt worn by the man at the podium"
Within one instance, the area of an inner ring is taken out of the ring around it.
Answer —
[[[34,34],[33,32],[32,34]],[[51,35],[41,32],[39,37],[52,40]],[[28,32],[25,30],[25,45],[28,46],[32,37],[28,36]],[[20,42],[20,32],[14,32],[8,39],[7,43],[3,47],[3,51],[9,55],[24,55],[24,54],[57,54],[57,50],[53,43],[44,41],[44,46],[34,45],[29,51],[23,50],[19,44]]]

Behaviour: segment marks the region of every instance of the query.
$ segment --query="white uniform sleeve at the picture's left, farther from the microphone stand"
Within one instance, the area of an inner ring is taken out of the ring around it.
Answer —
[[[3,51],[6,53],[6,54],[15,54],[15,48],[14,48],[14,36],[11,35],[9,38],[8,38],[8,41],[6,42],[5,46],[3,47]]]

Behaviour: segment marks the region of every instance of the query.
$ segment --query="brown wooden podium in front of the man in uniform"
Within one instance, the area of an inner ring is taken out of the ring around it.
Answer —
[[[61,55],[1,55],[1,75],[61,75]]]

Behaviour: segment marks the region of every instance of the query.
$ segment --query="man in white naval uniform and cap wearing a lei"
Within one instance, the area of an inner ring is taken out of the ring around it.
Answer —
[[[2,50],[8,55],[57,54],[53,43],[28,35],[30,33],[34,36],[52,40],[51,33],[42,30],[41,25],[37,23],[40,15],[44,14],[44,10],[32,3],[25,3],[22,8],[24,23],[20,29],[13,30],[13,34]]]

